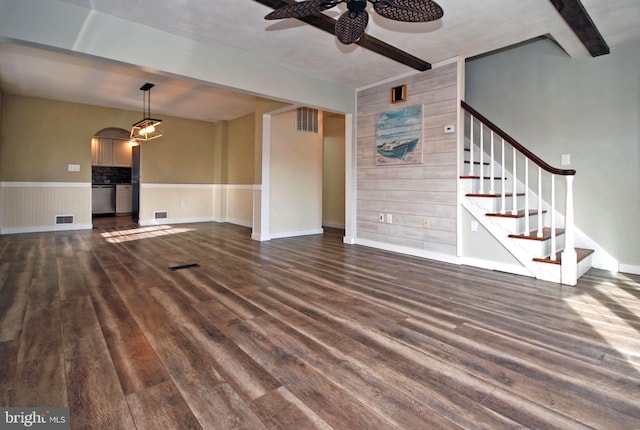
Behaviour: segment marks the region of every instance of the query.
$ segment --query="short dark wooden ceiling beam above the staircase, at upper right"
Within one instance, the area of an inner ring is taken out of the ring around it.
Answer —
[[[609,46],[580,0],[549,0],[592,57],[609,53]]]

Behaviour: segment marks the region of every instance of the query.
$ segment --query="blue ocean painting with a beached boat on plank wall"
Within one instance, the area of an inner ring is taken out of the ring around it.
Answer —
[[[422,105],[383,112],[376,118],[376,164],[422,163]]]

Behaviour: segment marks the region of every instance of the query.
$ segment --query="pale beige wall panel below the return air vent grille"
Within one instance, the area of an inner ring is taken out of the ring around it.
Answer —
[[[322,130],[319,134],[296,132],[295,111],[274,115],[271,121],[270,234],[318,232],[322,229]]]

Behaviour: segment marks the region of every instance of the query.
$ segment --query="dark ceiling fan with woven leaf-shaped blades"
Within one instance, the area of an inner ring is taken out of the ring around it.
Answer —
[[[369,22],[367,0],[302,0],[282,6],[265,16],[265,19],[302,18],[340,3],[347,3],[347,10],[336,21],[335,34],[346,45],[357,42]],[[369,0],[381,16],[395,21],[429,22],[442,18],[444,12],[432,0]]]

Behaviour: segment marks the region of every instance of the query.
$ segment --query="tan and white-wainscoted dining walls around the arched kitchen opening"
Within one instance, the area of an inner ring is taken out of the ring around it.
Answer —
[[[76,222],[68,229],[90,228],[91,137],[107,127],[128,129],[140,114],[13,95],[4,96],[3,102],[2,232],[60,229],[53,225],[54,216],[66,214]],[[250,224],[252,185],[225,189],[224,199],[214,188],[227,182],[229,124],[161,118],[165,135],[141,147],[141,222],[154,223],[153,211],[166,210],[170,222]],[[252,127],[242,136],[244,151],[253,155]],[[68,164],[79,164],[80,172],[68,172]],[[251,158],[243,171],[252,173],[253,168]]]

